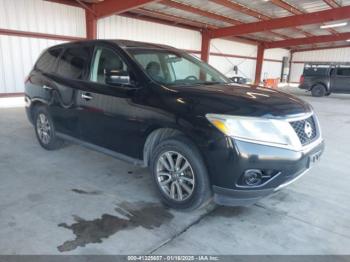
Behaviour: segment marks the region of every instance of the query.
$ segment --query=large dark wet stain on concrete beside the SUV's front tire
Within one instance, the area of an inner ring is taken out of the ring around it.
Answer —
[[[123,202],[115,210],[120,216],[103,214],[101,218],[94,220],[73,216],[75,223],[71,225],[59,224],[59,227],[72,230],[76,237],[74,240],[64,242],[57,249],[60,252],[67,252],[90,243],[102,243],[103,239],[118,231],[139,226],[146,229],[158,228],[174,217],[168,209],[158,203]]]

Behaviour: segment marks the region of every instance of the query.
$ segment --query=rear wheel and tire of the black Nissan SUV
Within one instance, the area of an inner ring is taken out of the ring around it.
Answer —
[[[55,126],[46,107],[34,108],[34,129],[39,144],[46,150],[56,150],[62,147],[63,140],[58,138]]]

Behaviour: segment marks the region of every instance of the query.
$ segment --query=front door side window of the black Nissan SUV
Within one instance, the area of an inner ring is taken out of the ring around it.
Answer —
[[[128,72],[127,65],[114,51],[107,48],[97,48],[92,61],[90,80],[106,84],[106,72]]]

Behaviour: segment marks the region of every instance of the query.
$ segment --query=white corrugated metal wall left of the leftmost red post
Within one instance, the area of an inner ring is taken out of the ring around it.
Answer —
[[[0,28],[85,37],[81,8],[42,0],[0,0]],[[0,35],[0,94],[23,92],[39,54],[62,41]]]

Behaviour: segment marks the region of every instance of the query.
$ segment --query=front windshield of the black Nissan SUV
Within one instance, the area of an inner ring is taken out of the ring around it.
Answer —
[[[194,86],[230,82],[208,64],[183,52],[138,48],[127,51],[150,78],[164,85]]]

